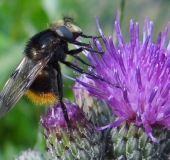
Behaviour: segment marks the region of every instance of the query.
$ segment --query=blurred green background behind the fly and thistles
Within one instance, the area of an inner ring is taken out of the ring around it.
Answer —
[[[99,33],[94,20],[97,15],[105,35],[112,35],[116,11],[121,9],[120,3],[118,0],[1,0],[0,89],[21,60],[26,41],[46,29],[47,24],[61,19],[62,15],[70,15],[85,34],[97,36]],[[133,18],[140,23],[142,34],[146,16],[154,21],[153,39],[156,40],[157,33],[163,31],[170,20],[169,6],[169,0],[126,1],[121,24],[125,40],[128,41],[129,20]],[[62,67],[62,72],[75,77],[73,71],[65,67]],[[64,79],[63,83],[64,97],[74,101],[69,88],[73,82]],[[44,110],[44,107],[35,106],[22,97],[14,109],[0,119],[0,160],[14,159],[28,148],[45,148],[39,136],[41,134],[37,134],[40,115]]]

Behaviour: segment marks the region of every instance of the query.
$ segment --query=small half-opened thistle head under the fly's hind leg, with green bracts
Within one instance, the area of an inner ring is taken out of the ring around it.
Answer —
[[[101,134],[78,105],[65,100],[70,128],[67,128],[60,103],[41,117],[49,153],[53,159],[99,159],[103,154]]]

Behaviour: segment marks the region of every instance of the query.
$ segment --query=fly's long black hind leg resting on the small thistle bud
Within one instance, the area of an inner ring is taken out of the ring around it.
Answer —
[[[58,88],[58,96],[59,96],[59,101],[60,101],[60,105],[61,105],[61,109],[63,111],[63,115],[64,118],[66,120],[67,126],[70,129],[71,125],[70,125],[70,120],[68,118],[68,113],[67,113],[67,109],[65,104],[63,103],[63,84],[62,84],[62,74],[61,74],[61,69],[60,66],[57,63],[55,63],[53,65],[53,67],[55,68],[55,70],[57,71],[57,88]]]

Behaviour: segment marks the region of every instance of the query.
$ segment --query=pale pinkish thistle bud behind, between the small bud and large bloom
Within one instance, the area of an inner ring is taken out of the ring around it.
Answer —
[[[85,76],[81,76],[79,80],[82,80],[84,83],[94,85],[94,81]],[[84,90],[79,83],[75,83],[72,88],[74,89],[75,102],[79,104],[79,106],[82,106],[83,104],[83,111],[87,114],[95,126],[109,123],[110,120],[114,118],[112,117],[111,109],[107,106],[105,101],[92,97],[92,95],[88,91]]]

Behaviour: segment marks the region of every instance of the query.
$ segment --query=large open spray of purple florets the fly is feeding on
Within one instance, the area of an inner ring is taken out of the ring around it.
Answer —
[[[124,42],[119,21],[115,21],[118,44],[103,34],[98,19],[98,30],[106,47],[106,53],[98,57],[85,52],[95,66],[96,74],[107,82],[93,79],[95,86],[79,79],[79,82],[93,96],[105,100],[112,108],[117,120],[97,129],[119,126],[124,121],[143,126],[154,142],[152,126],[161,125],[170,129],[170,45],[166,47],[169,24],[164,33],[158,34],[156,43],[152,42],[153,22],[146,18],[143,29],[143,42],[139,38],[139,24],[130,21],[130,41]],[[102,46],[94,43],[99,51]],[[90,72],[92,69],[90,69]]]

